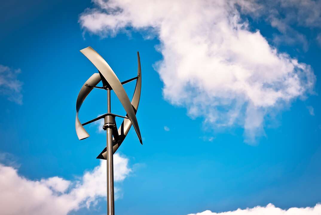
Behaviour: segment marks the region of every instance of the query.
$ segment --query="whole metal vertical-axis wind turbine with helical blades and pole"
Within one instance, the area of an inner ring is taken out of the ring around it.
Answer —
[[[113,169],[113,154],[122,144],[126,135],[133,125],[138,139],[141,144],[143,144],[141,133],[138,127],[138,122],[136,119],[136,112],[139,104],[139,99],[141,95],[142,89],[142,72],[140,65],[139,53],[137,52],[138,59],[138,72],[137,76],[126,81],[120,82],[114,73],[114,71],[110,68],[108,63],[102,58],[94,49],[91,47],[87,47],[85,49],[80,50],[82,54],[84,54],[91,63],[98,69],[98,73],[94,73],[85,83],[82,85],[80,92],[77,97],[76,102],[76,133],[79,140],[86,139],[89,137],[88,132],[84,129],[84,125],[87,125],[91,122],[104,119],[103,129],[106,130],[107,134],[107,144],[104,150],[98,155],[97,158],[107,160],[107,215],[115,215],[114,209],[114,169]],[[136,80],[135,91],[133,95],[132,101],[129,100],[125,89],[123,87],[124,84]],[[102,82],[102,87],[97,86],[99,82]],[[80,107],[87,97],[87,95],[91,92],[93,88],[103,89],[107,91],[107,113],[90,120],[85,123],[81,123],[78,118],[78,113]],[[111,113],[111,105],[110,105],[110,91],[114,90],[117,95],[120,103],[123,105],[126,116],[120,116],[114,113]],[[117,129],[115,117],[124,118],[121,126]]]

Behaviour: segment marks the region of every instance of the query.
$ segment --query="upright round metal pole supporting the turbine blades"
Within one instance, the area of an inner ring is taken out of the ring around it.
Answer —
[[[107,111],[110,110],[110,89],[107,88]],[[115,215],[114,206],[114,164],[113,164],[113,130],[115,117],[106,116],[105,125],[107,133],[107,215]]]

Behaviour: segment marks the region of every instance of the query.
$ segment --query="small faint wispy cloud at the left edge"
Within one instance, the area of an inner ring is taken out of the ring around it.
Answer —
[[[0,64],[0,94],[9,101],[22,104],[22,82],[17,79],[20,69],[12,70]]]

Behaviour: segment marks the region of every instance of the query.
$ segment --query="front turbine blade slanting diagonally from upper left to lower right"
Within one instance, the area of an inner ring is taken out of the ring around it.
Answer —
[[[136,115],[134,112],[134,108],[125,92],[125,89],[123,85],[118,80],[116,74],[114,71],[110,68],[108,63],[102,58],[94,49],[92,49],[90,46],[80,50],[83,55],[85,55],[93,65],[98,69],[100,74],[104,77],[104,79],[108,82],[108,84],[111,86],[111,88],[114,90],[115,94],[117,95],[120,103],[122,103],[128,118],[133,124],[133,127],[137,133],[138,139],[141,143],[142,137],[141,133],[138,127],[138,122],[136,119]]]

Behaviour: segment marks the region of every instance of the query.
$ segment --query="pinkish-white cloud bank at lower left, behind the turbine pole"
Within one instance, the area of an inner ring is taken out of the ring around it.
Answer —
[[[123,181],[131,172],[128,159],[114,155],[115,182]],[[106,161],[75,181],[60,177],[29,180],[17,169],[0,164],[1,214],[66,215],[70,211],[97,204],[106,197]],[[119,189],[115,189],[117,199]]]

